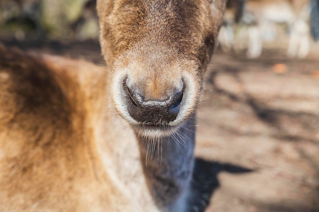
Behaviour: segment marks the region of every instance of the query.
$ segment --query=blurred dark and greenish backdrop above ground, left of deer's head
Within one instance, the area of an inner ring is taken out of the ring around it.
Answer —
[[[96,1],[1,0],[2,37],[97,39]]]

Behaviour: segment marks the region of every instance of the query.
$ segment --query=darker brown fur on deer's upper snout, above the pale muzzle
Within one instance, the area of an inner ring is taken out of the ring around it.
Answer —
[[[214,2],[211,4],[216,7],[216,14],[207,12],[209,2]],[[105,60],[112,65],[114,58],[141,40],[148,40],[207,62],[214,50],[215,44],[211,43],[216,40],[222,16],[218,11],[224,9],[224,2],[97,1]]]

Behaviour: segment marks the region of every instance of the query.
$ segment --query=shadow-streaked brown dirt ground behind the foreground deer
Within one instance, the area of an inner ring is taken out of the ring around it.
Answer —
[[[2,42],[104,64],[97,41]],[[217,50],[205,75],[192,211],[319,211],[319,59],[243,55]]]

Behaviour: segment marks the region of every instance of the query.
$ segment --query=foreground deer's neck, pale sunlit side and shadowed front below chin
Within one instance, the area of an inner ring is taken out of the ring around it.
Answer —
[[[110,100],[103,101],[103,115],[93,122],[98,126],[94,145],[104,170],[145,207],[154,202],[162,210],[183,211],[177,204],[184,205],[193,173],[195,114],[171,136],[143,138],[116,113]]]

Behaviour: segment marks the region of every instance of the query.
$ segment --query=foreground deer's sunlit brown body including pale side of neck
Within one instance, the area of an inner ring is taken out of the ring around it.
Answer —
[[[0,210],[158,211],[135,135],[112,111],[108,73],[59,57],[1,53],[19,62],[0,72],[7,105],[0,113]]]

